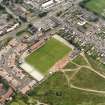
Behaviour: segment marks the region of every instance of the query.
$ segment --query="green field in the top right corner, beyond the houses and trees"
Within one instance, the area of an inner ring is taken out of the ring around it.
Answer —
[[[87,0],[84,6],[90,11],[105,17],[105,0]]]

